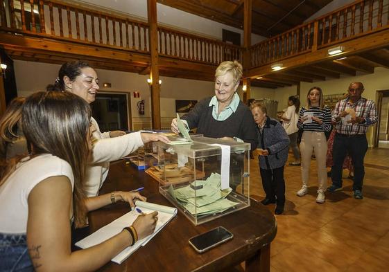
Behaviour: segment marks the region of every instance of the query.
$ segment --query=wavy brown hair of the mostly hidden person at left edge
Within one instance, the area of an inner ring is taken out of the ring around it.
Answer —
[[[14,98],[0,119],[0,158],[27,154],[27,143],[21,130],[21,106],[25,98]]]

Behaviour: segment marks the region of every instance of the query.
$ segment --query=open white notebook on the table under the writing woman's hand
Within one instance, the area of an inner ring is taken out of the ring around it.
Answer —
[[[123,251],[121,251],[121,253],[116,255],[111,260],[112,262],[116,262],[116,264],[121,264],[140,246],[144,246],[145,244],[147,244],[147,242],[150,241],[150,239],[152,239],[154,235],[159,232],[159,230],[162,230],[162,228],[166,224],[168,224],[168,222],[171,221],[171,219],[173,219],[175,215],[177,215],[177,209],[168,206],[162,206],[144,201],[136,201],[135,205],[138,208],[141,208],[142,212],[144,213],[150,213],[156,210],[158,212],[157,226],[155,226],[153,234],[150,234],[148,235],[148,237],[137,241],[133,246],[128,246],[128,248],[125,248]],[[100,228],[95,233],[92,233],[88,237],[85,237],[84,239],[78,241],[76,243],[76,246],[79,246],[80,248],[89,248],[91,246],[95,246],[96,244],[100,244],[106,239],[110,239],[110,237],[113,237],[114,235],[120,233],[123,228],[130,226],[132,222],[137,219],[138,216],[139,212],[134,209],[126,213],[126,215],[123,215],[115,221],[112,221],[110,224],[107,224],[107,226]]]

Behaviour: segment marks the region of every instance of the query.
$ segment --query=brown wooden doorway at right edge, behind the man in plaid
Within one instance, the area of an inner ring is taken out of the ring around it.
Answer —
[[[389,90],[377,91],[377,129],[374,131],[374,147],[389,149]]]

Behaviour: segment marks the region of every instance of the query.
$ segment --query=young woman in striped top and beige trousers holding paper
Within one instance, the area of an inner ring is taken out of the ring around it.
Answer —
[[[308,192],[309,167],[311,156],[315,150],[316,163],[318,167],[318,197],[316,202],[325,202],[325,190],[327,189],[327,140],[325,132],[331,130],[331,111],[324,105],[322,89],[312,87],[306,96],[308,107],[300,109],[297,127],[303,130],[300,143],[301,152],[301,177],[302,188],[297,192],[299,197]]]

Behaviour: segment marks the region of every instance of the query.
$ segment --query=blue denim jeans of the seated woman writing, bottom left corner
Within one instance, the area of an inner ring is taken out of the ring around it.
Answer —
[[[25,234],[0,233],[0,271],[34,271]]]

